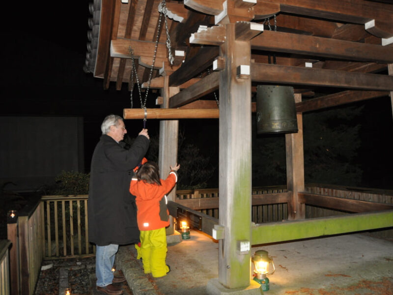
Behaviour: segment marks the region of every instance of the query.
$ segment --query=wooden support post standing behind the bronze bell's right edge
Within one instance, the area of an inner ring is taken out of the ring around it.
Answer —
[[[295,103],[302,100],[302,94],[295,94]],[[297,114],[297,133],[285,134],[286,186],[292,192],[292,202],[288,203],[288,219],[305,219],[305,204],[298,199],[298,192],[304,191],[303,155],[303,115]]]

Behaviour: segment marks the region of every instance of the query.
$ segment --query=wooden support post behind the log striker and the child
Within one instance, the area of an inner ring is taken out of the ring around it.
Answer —
[[[168,108],[169,97],[180,91],[179,87],[169,87],[169,76],[164,76],[164,88],[161,96],[164,101],[162,108]],[[160,167],[161,178],[166,178],[169,173],[169,166],[177,162],[177,142],[178,142],[179,121],[161,120],[160,121],[160,141],[158,153],[158,165]],[[168,194],[168,201],[175,201],[176,187]],[[167,235],[173,234],[173,218],[170,217],[170,225],[167,228]]]

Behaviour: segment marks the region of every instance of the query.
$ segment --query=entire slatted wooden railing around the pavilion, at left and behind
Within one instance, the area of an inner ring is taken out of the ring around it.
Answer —
[[[285,187],[253,188],[252,192],[253,222],[269,224],[287,219],[291,192],[286,191]],[[299,196],[301,202],[306,204],[307,218],[340,214],[345,209],[356,212],[367,206],[376,209],[393,206],[393,191],[385,190],[308,185]],[[324,208],[326,201],[322,197],[327,200],[335,197],[341,199],[332,202],[336,204],[332,210]],[[173,216],[179,207],[202,216],[206,220],[203,226],[209,228],[206,232],[210,232],[218,222],[218,189],[179,190],[175,202],[170,203],[174,208]],[[356,203],[356,206],[352,203]],[[8,240],[12,245],[9,252],[4,250],[8,249],[9,242],[0,247],[3,249],[0,252],[1,295],[7,294],[7,290],[11,290],[12,295],[33,294],[43,259],[94,255],[95,247],[88,242],[87,205],[87,195],[44,196],[28,212],[21,212],[16,222],[7,224]],[[384,233],[385,237],[393,237],[393,230]],[[7,278],[3,275],[8,257],[10,288],[4,283]]]

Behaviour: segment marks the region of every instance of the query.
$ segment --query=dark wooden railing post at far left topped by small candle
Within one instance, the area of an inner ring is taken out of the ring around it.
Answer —
[[[15,210],[7,214],[7,238],[11,241],[9,250],[10,264],[10,291],[11,295],[20,294],[19,276],[19,238],[18,238],[18,215]]]

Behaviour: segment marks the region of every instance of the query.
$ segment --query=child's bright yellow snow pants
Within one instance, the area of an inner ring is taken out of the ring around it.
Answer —
[[[155,278],[165,276],[169,271],[167,258],[167,235],[165,228],[152,231],[140,231],[140,255],[144,273]]]

